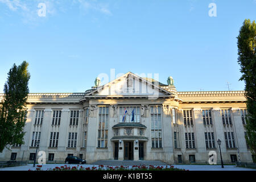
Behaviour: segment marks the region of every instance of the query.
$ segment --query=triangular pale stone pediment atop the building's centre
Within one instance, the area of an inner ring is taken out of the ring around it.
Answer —
[[[172,96],[156,84],[128,72],[108,84],[98,86],[86,96]]]

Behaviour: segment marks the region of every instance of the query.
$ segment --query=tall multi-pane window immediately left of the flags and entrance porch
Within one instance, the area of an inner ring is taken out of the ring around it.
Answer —
[[[99,124],[98,124],[98,147],[108,147],[108,129],[109,129],[109,107],[100,106]]]

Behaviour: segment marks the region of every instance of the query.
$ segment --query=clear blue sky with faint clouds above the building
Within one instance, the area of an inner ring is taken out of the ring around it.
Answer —
[[[0,0],[0,93],[23,60],[31,93],[85,92],[112,68],[172,76],[177,91],[243,90],[236,37],[255,10],[255,0]]]

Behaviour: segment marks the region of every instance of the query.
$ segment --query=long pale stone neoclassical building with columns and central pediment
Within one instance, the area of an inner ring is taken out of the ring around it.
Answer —
[[[0,94],[3,102],[3,94]],[[68,155],[97,160],[162,160],[208,163],[253,162],[246,144],[244,91],[177,92],[131,72],[85,93],[30,93],[24,144],[9,146],[0,160],[28,160],[38,151],[46,162]]]

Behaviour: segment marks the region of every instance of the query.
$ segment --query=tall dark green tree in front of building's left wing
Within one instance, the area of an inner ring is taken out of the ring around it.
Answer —
[[[28,63],[23,61],[18,67],[10,69],[3,92],[3,103],[0,105],[0,152],[7,145],[23,144],[23,127],[26,123],[26,106],[28,80]]]

